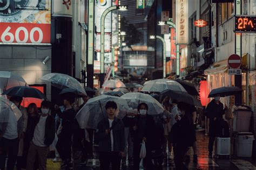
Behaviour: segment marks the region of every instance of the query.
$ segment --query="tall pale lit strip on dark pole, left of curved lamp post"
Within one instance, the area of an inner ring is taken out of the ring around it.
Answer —
[[[88,65],[93,65],[94,55],[94,1],[95,0],[89,0],[88,5]]]

